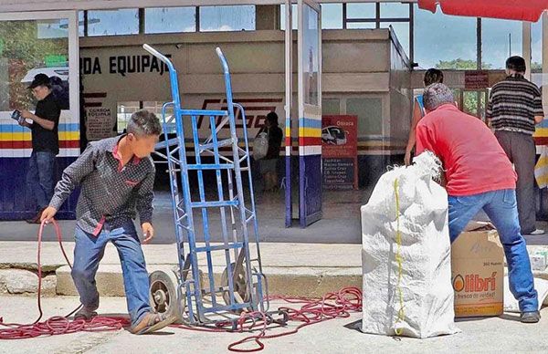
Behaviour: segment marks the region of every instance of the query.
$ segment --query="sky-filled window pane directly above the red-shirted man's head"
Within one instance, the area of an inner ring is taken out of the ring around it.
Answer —
[[[432,14],[415,7],[415,61],[419,68],[476,68],[476,19]]]

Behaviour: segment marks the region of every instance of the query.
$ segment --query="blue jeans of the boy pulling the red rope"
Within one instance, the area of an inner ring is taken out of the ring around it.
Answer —
[[[72,279],[78,289],[82,305],[90,309],[99,307],[95,274],[105,246],[111,242],[120,255],[123,285],[132,326],[138,324],[152,308],[149,305],[149,278],[144,255],[133,223],[128,222],[113,230],[109,230],[109,225],[105,224],[97,237],[76,226],[75,241]]]

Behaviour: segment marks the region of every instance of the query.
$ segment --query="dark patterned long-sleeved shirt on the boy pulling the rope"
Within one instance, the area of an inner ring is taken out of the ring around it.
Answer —
[[[91,142],[63,172],[49,203],[59,210],[74,189],[81,185],[76,208],[78,225],[87,233],[98,235],[135,219],[141,224],[153,218],[154,165],[151,158],[132,160],[121,165],[118,141],[121,137]],[[106,225],[105,225],[106,224]]]

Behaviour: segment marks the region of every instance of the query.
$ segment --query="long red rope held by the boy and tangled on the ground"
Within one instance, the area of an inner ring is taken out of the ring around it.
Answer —
[[[55,227],[55,231],[58,237],[58,243],[61,248],[61,252],[68,261],[68,256],[63,248],[61,232],[56,221],[52,221]],[[55,336],[60,334],[68,334],[75,332],[100,332],[100,331],[114,331],[123,327],[128,327],[130,321],[128,318],[121,317],[101,317],[86,321],[84,319],[69,320],[68,317],[72,316],[79,307],[75,308],[66,317],[56,316],[48,318],[46,321],[39,322],[42,318],[42,305],[41,305],[41,287],[42,287],[42,265],[40,260],[40,254],[42,251],[42,233],[44,231],[45,223],[40,225],[38,231],[38,292],[37,292],[37,304],[39,316],[32,324],[24,325],[19,323],[5,323],[3,318],[0,318],[0,340],[1,339],[24,339],[35,338],[40,336]],[[280,311],[285,311],[289,314],[290,321],[300,322],[300,325],[291,330],[277,333],[267,334],[269,321],[267,315],[261,312],[242,312],[240,318],[237,320],[237,330],[239,332],[252,332],[257,331],[257,335],[251,335],[247,338],[238,340],[228,346],[228,350],[245,353],[259,351],[265,348],[262,343],[264,339],[279,338],[289,336],[297,333],[300,328],[304,328],[316,323],[327,321],[334,318],[348,318],[351,312],[362,311],[362,290],[357,287],[344,287],[337,293],[328,293],[321,298],[307,298],[307,297],[269,297],[270,300],[281,300],[288,304],[300,305],[299,309],[292,307],[279,307]],[[182,328],[188,330],[196,330],[201,332],[227,332],[227,328],[199,328],[191,327],[187,325],[171,325],[172,328]],[[237,347],[242,344],[254,341],[256,343],[255,348],[251,349],[238,349]]]

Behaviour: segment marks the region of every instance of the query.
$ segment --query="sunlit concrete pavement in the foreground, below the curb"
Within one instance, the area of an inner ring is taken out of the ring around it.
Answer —
[[[29,323],[37,318],[36,298],[0,295],[0,316],[5,321]],[[79,304],[78,297],[46,297],[43,300],[44,318],[66,315]],[[277,308],[281,303],[273,303]],[[284,304],[287,305],[287,304]],[[290,305],[290,307],[298,307]],[[23,310],[24,309],[24,310]],[[125,299],[102,297],[99,313],[125,314]],[[360,332],[361,314],[338,318],[302,328],[298,334],[264,340],[260,353],[546,353],[548,341],[548,310],[543,308],[537,324],[519,322],[516,314],[499,318],[468,318],[458,320],[461,333],[452,336],[417,339],[368,335]],[[288,328],[269,329],[273,335],[293,329],[300,322],[291,322]],[[258,334],[255,332],[254,334]],[[54,337],[0,341],[1,354],[75,354],[75,353],[227,353],[227,346],[247,333],[204,333],[180,328],[164,328],[146,336],[134,336],[126,330],[114,332],[78,332]],[[240,348],[255,348],[254,342]]]

